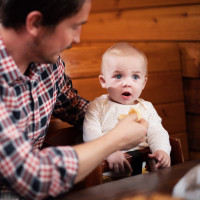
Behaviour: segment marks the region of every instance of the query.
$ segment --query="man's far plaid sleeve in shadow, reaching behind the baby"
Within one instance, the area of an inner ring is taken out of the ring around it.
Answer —
[[[80,97],[77,90],[73,88],[70,77],[64,73],[64,63],[61,60],[58,67],[60,81],[53,115],[72,125],[82,127],[89,101]]]

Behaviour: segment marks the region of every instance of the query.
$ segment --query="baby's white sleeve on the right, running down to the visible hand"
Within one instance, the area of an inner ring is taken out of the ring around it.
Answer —
[[[148,102],[148,132],[147,141],[152,152],[163,150],[170,155],[171,146],[169,142],[168,132],[162,126],[162,119],[156,112],[153,105]]]

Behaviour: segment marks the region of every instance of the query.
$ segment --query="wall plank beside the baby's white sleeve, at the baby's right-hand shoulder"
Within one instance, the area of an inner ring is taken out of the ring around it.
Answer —
[[[162,119],[163,127],[170,134],[186,132],[184,102],[160,104],[155,108]]]

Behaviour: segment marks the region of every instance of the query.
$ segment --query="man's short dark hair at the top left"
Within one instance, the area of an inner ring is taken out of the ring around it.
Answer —
[[[7,28],[18,29],[25,24],[31,11],[40,11],[41,24],[54,27],[65,18],[74,16],[85,0],[0,0],[0,22]]]

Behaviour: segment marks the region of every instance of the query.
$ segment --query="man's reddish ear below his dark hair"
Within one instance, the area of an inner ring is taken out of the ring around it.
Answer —
[[[26,17],[26,29],[32,36],[37,36],[41,28],[42,13],[39,11],[32,11]]]

